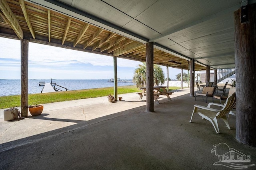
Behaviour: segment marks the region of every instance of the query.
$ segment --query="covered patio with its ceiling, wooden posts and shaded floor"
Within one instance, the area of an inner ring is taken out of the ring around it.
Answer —
[[[112,56],[115,95],[117,57],[146,62],[148,76],[146,109],[127,109],[90,126],[79,121],[79,128],[40,139],[42,133],[32,143],[30,137],[17,140],[26,145],[1,154],[10,156],[8,160],[18,155],[20,162],[1,161],[2,166],[219,169],[223,167],[212,166],[218,159],[210,153],[218,143],[228,143],[255,161],[255,2],[1,0],[0,36],[21,41],[23,117],[28,116],[29,42]],[[155,106],[153,64],[190,70],[189,94]],[[237,114],[236,124],[231,119],[232,130],[220,121],[217,134],[208,121],[195,116],[189,123],[189,118],[194,104],[200,104],[192,97],[194,72],[206,70],[209,81],[210,69],[223,68],[236,68]]]

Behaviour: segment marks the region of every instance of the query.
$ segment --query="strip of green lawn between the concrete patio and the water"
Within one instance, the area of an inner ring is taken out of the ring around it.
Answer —
[[[169,90],[180,89],[180,87],[170,87]],[[136,86],[121,86],[118,87],[118,94],[139,92],[140,90]],[[28,105],[46,104],[54,102],[63,102],[68,100],[97,98],[102,96],[108,96],[114,94],[114,88],[97,88],[86,90],[70,90],[56,93],[39,93],[28,95]],[[0,109],[9,107],[20,106],[20,95],[16,96],[1,96],[0,97]]]

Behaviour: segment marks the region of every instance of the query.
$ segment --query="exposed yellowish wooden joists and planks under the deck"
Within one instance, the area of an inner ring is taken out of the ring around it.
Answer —
[[[16,18],[18,23],[16,25],[20,25],[21,30],[18,33],[12,28],[20,39],[22,38],[20,34],[24,32],[26,36],[29,35],[26,38],[33,38],[35,39],[34,42],[38,43],[47,44],[48,41],[50,42],[48,44],[57,47],[84,50],[146,62],[146,45],[143,43],[30,2],[23,0],[1,0],[1,3],[4,2],[6,2],[13,12],[14,18]],[[6,18],[1,10],[0,30],[1,28],[11,28],[10,25],[5,23],[5,20]],[[8,20],[8,22],[10,21]],[[17,28],[18,26],[15,29]],[[9,34],[9,37],[13,37],[12,33]],[[54,44],[51,44],[52,40]],[[154,49],[154,64],[174,68],[188,68],[188,61],[186,59],[181,59],[159,49]],[[205,67],[195,63],[195,69],[205,70]]]

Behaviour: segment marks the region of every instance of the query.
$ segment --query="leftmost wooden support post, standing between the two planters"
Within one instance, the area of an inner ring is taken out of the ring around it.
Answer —
[[[21,116],[28,116],[28,40],[20,40],[20,82]]]

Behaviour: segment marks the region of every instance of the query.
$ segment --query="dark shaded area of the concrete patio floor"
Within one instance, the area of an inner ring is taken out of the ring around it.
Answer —
[[[185,95],[154,105],[153,113],[141,106],[89,121],[29,117],[76,124],[1,144],[0,169],[226,169],[213,165],[219,143],[256,163],[256,148],[235,140],[235,117],[232,130],[218,120],[217,134],[199,115],[189,122],[194,104],[207,106]]]

